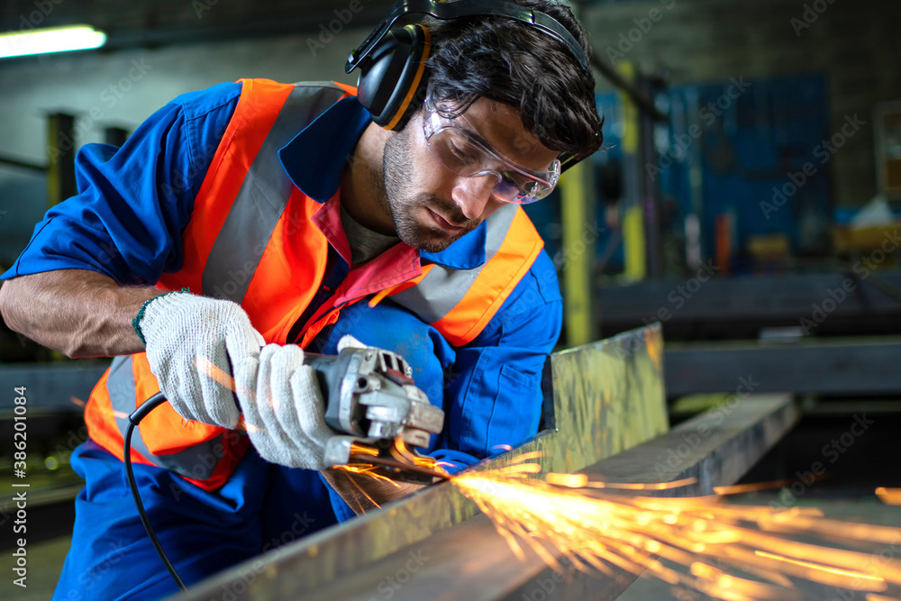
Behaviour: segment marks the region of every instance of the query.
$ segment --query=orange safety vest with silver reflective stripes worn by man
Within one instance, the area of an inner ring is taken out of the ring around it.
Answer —
[[[322,284],[329,242],[313,219],[322,204],[288,178],[278,150],[356,90],[337,83],[241,82],[238,105],[183,233],[182,267],[165,274],[157,287],[229,298],[241,304],[267,342],[286,344]],[[482,332],[542,248],[522,208],[505,205],[487,219],[482,265],[427,264],[405,280],[378,282],[366,293],[390,295],[461,346]],[[340,311],[330,303],[320,307],[301,331],[301,346],[335,323]],[[126,417],[158,392],[145,353],[115,358],[86,405],[91,438],[122,460]],[[132,434],[132,461],[172,469],[214,490],[232,474],[248,444],[244,433],[185,420],[164,404]]]

